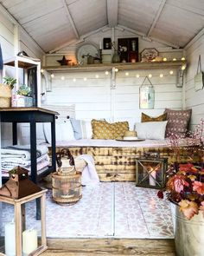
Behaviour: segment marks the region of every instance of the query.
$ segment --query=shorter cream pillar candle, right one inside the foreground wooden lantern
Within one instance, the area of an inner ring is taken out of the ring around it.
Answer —
[[[37,249],[37,231],[36,229],[26,229],[22,232],[22,253],[29,255]]]

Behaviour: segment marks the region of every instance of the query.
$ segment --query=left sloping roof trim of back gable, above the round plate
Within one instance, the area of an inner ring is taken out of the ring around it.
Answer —
[[[91,32],[88,32],[88,33],[86,33],[86,34],[80,36],[79,39],[74,39],[74,40],[69,41],[69,42],[67,42],[67,43],[62,43],[61,45],[59,45],[59,46],[56,47],[55,49],[50,50],[48,53],[54,53],[54,52],[56,52],[56,51],[58,51],[58,50],[60,50],[60,49],[62,49],[62,48],[65,48],[65,47],[67,47],[67,46],[72,45],[73,43],[74,43],[74,44],[82,43],[82,42],[85,41],[85,38],[86,38],[86,37],[92,36],[92,35],[94,35],[94,34],[100,32],[100,31],[105,32],[106,30],[110,30],[110,28],[108,28],[107,25],[105,25],[105,26],[103,26],[103,27],[101,27],[101,28],[99,28],[99,29],[97,29],[97,30],[93,30],[93,31],[91,31]]]

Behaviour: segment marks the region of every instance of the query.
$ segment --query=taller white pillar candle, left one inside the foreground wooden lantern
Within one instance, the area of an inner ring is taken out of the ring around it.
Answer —
[[[16,255],[16,233],[14,222],[5,224],[5,254],[7,256]]]

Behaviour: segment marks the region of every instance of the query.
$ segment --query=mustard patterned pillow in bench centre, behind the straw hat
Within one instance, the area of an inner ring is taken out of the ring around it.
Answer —
[[[128,121],[109,123],[92,119],[92,139],[114,140],[123,137],[128,129]]]

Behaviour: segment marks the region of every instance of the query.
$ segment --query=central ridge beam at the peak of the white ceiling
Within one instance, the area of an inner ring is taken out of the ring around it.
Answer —
[[[118,0],[107,0],[107,17],[111,28],[118,25]]]

